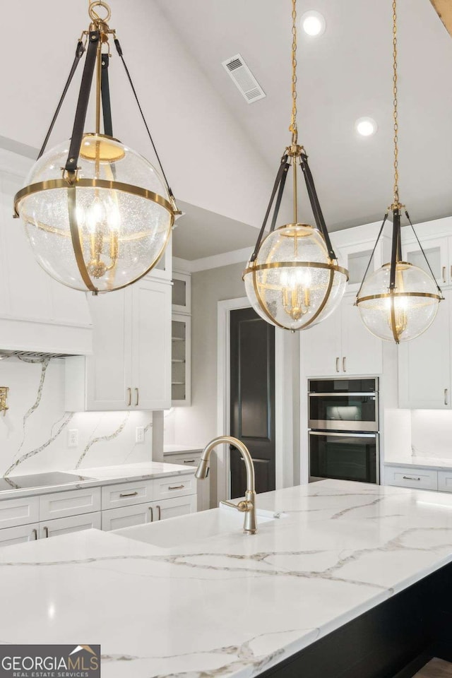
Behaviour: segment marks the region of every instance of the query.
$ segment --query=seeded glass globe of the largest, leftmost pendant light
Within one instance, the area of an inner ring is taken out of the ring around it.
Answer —
[[[45,153],[25,185],[61,179],[68,150],[66,141]],[[76,187],[75,221],[83,260],[93,285],[99,292],[108,292],[129,285],[155,266],[171,232],[171,210],[137,194],[133,187],[165,201],[168,194],[148,160],[109,137],[86,134],[78,167],[77,181],[124,184],[121,190]],[[40,266],[60,283],[86,291],[71,239],[68,198],[66,187],[40,190],[20,199],[18,213]]]

